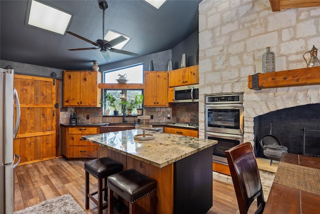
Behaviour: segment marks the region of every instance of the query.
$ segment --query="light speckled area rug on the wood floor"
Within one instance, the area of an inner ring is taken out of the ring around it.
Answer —
[[[64,194],[14,212],[13,214],[86,214],[70,194]]]

